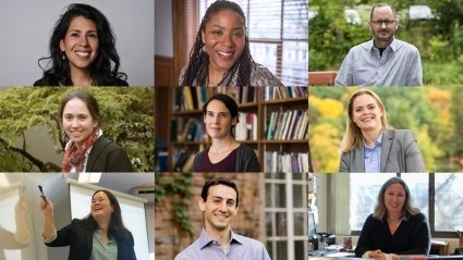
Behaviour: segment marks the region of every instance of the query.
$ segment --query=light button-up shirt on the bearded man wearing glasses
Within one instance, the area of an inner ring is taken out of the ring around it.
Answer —
[[[422,86],[418,49],[393,39],[382,55],[373,39],[353,47],[342,62],[336,86]]]

